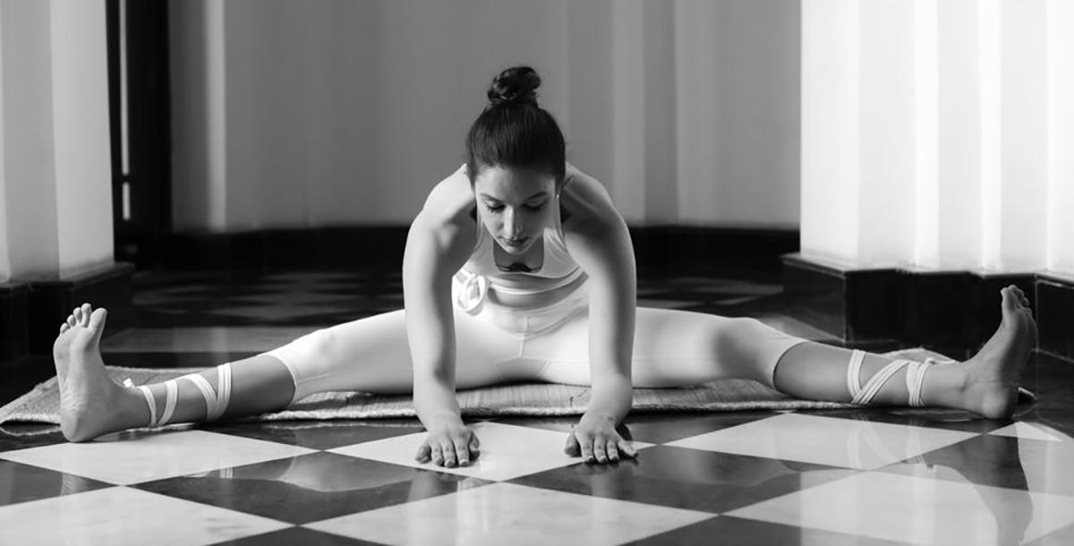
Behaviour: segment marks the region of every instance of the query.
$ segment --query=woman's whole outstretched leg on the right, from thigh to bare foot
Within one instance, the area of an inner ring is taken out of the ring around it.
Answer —
[[[1028,301],[1016,288],[1003,290],[1002,310],[999,330],[963,364],[924,367],[865,354],[858,390],[868,389],[876,377],[869,403],[909,405],[909,387],[920,387],[927,405],[970,410],[986,417],[1010,415],[1036,334]],[[589,384],[587,319],[580,314],[528,342],[527,356],[549,362],[539,379]],[[634,385],[676,387],[738,377],[804,399],[848,402],[854,398],[847,379],[854,354],[794,337],[753,318],[642,307],[635,329]],[[888,367],[892,374],[877,375]],[[908,372],[913,374],[910,382]]]

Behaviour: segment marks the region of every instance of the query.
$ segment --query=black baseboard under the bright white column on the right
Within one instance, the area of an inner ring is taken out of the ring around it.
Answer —
[[[1074,358],[1074,282],[1043,273],[857,269],[783,257],[792,315],[844,345],[924,346],[956,358],[976,353],[999,327],[1000,289],[1016,285],[1036,314],[1037,349]]]

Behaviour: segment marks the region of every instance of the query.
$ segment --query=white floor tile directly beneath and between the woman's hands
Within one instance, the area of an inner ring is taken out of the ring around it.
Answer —
[[[581,462],[581,458],[569,457],[563,452],[563,447],[567,443],[566,432],[498,422],[478,422],[471,425],[470,429],[481,443],[481,455],[476,461],[471,461],[469,466],[448,469],[436,466],[432,462],[422,464],[413,460],[418,447],[427,435],[426,432],[344,446],[330,451],[494,480],[513,479]],[[652,444],[633,442],[632,445],[636,449],[641,449]]]

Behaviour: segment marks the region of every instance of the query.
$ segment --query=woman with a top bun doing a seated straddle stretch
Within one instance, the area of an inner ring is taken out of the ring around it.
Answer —
[[[275,411],[329,390],[412,389],[429,432],[416,458],[466,465],[479,443],[454,390],[505,380],[591,385],[566,450],[599,463],[635,456],[615,431],[634,386],[741,377],[807,399],[1012,415],[1035,339],[1013,286],[1002,290],[999,330],[964,363],[892,361],[752,318],[637,308],[626,224],[600,183],[566,162],[563,134],[537,104],[539,85],[528,67],[493,81],[466,163],[431,191],[410,227],[405,310],[135,388],[106,376],[98,347],[105,311],[85,304],[54,349],[64,436]]]

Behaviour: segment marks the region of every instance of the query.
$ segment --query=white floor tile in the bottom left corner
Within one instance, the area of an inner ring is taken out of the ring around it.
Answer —
[[[127,487],[0,508],[0,544],[212,544],[288,523]]]

